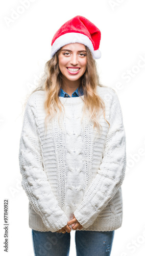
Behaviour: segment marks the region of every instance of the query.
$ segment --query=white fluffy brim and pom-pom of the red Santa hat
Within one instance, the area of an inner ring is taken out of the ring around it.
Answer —
[[[61,47],[74,42],[79,42],[80,44],[87,46],[90,49],[94,59],[99,59],[101,57],[100,50],[98,49],[94,51],[92,42],[88,36],[72,32],[61,35],[54,41],[51,50],[51,58]]]

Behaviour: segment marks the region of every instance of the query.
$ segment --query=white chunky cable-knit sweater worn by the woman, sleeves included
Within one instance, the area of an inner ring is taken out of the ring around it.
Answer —
[[[83,226],[81,230],[111,231],[122,225],[121,185],[126,169],[122,110],[114,90],[98,87],[97,91],[110,123],[109,127],[102,114],[101,136],[87,115],[81,122],[84,95],[59,97],[64,119],[58,109],[46,133],[44,91],[36,91],[28,99],[19,166],[21,185],[29,198],[29,227],[34,230],[55,232],[73,214]]]

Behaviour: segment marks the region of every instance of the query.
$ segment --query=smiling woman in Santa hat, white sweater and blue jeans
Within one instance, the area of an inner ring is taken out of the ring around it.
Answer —
[[[122,226],[126,136],[116,92],[99,82],[100,30],[76,16],[56,32],[20,137],[35,255],[110,255]]]

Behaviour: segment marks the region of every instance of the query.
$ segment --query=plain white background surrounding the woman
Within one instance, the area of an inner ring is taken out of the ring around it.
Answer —
[[[24,2],[27,8],[22,7]],[[116,90],[126,131],[124,216],[122,227],[115,230],[111,256],[143,256],[144,1],[7,0],[1,5],[1,255],[6,254],[4,199],[9,199],[9,254],[34,255],[28,226],[28,198],[20,185],[18,163],[22,104],[37,86],[44,63],[50,59],[54,33],[70,18],[82,15],[101,30],[102,57],[96,60],[100,79],[105,86]],[[69,255],[76,255],[75,231],[71,231]]]

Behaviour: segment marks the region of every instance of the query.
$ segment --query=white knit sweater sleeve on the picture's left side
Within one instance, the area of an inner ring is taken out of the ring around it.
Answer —
[[[28,100],[29,101],[29,100]],[[34,210],[48,230],[55,232],[67,224],[65,212],[59,207],[43,168],[36,110],[27,102],[19,145],[21,185]]]

